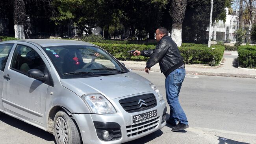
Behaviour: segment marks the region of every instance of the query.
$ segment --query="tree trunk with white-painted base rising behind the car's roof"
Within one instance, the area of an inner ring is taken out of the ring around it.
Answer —
[[[14,20],[15,38],[19,38],[21,40],[25,39],[24,23],[26,21],[26,10],[25,10],[25,4],[23,0],[14,0],[13,20]]]

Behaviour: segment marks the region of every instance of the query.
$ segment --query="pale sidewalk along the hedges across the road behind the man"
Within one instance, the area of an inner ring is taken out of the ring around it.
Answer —
[[[233,57],[230,57],[233,56]],[[216,67],[204,65],[185,65],[187,74],[206,75],[206,76],[228,76],[228,77],[246,77],[256,78],[256,69],[240,68],[236,57],[236,51],[225,51],[221,65]],[[145,61],[120,61],[125,64],[126,68],[132,70],[144,70],[146,67]],[[151,68],[151,71],[160,72],[159,64],[157,63]]]

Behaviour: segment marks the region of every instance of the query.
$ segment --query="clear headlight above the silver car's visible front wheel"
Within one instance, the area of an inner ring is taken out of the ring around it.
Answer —
[[[117,112],[108,99],[101,94],[86,94],[82,96],[82,99],[90,108],[91,113],[106,114]]]

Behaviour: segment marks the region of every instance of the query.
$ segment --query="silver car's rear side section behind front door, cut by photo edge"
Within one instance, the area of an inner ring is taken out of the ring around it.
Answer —
[[[7,59],[9,57],[11,48],[13,47],[14,43],[6,43],[0,44],[0,109],[3,110],[2,106],[2,83],[3,83],[3,74],[4,74],[4,67],[6,66]]]

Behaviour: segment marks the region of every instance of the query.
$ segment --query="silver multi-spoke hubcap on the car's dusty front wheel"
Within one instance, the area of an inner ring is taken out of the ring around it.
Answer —
[[[58,117],[55,124],[55,133],[59,144],[67,144],[69,140],[69,132],[67,124],[62,117]]]

